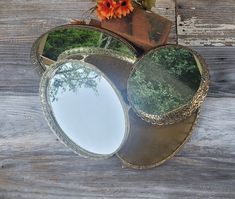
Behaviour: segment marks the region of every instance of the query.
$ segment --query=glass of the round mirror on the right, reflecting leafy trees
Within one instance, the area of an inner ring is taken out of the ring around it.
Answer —
[[[192,100],[201,83],[195,55],[168,45],[146,54],[128,80],[128,97],[137,111],[164,115]]]

